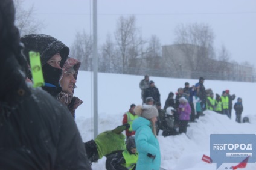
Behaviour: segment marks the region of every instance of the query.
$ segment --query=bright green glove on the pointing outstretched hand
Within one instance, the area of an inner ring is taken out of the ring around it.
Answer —
[[[124,150],[126,148],[126,136],[122,133],[116,134],[112,131],[100,133],[94,140],[97,144],[99,159],[114,151]]]

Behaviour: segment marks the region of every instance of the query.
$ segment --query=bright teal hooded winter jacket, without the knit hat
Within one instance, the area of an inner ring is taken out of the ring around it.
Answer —
[[[133,121],[132,129],[135,130],[135,142],[139,153],[139,159],[136,170],[159,170],[161,163],[161,154],[158,140],[152,132],[149,120],[139,117]],[[150,153],[156,156],[152,159],[147,156]]]

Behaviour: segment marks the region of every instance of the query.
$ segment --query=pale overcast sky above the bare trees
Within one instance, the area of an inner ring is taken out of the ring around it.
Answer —
[[[173,44],[180,23],[207,23],[215,34],[214,47],[222,44],[238,63],[256,66],[255,0],[98,0],[98,45],[115,31],[118,17],[136,16],[144,38],[157,35],[162,45]],[[71,46],[77,31],[92,34],[92,0],[25,0],[34,5],[35,17],[45,23],[40,33]]]

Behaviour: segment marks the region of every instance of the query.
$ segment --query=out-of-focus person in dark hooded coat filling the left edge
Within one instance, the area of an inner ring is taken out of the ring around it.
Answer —
[[[0,1],[0,42],[1,169],[91,169],[69,111],[25,83],[11,0]]]

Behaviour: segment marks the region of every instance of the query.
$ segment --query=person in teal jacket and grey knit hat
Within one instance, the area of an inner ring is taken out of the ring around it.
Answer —
[[[161,154],[155,127],[158,110],[152,105],[138,105],[135,107],[135,114],[139,116],[132,124],[139,154],[136,170],[159,170]]]

